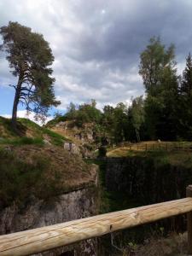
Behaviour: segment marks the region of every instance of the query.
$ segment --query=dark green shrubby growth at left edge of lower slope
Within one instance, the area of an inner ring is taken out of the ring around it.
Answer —
[[[38,195],[37,184],[40,185],[48,166],[49,160],[41,156],[26,163],[9,150],[0,149],[0,208],[13,201],[25,204],[29,196]]]

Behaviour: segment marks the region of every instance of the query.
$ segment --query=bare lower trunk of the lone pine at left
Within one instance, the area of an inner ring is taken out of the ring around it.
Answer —
[[[17,107],[18,107],[18,103],[20,101],[20,89],[21,89],[21,85],[22,85],[22,79],[19,78],[16,89],[15,89],[15,99],[14,99],[14,106],[13,106],[13,111],[12,111],[12,119],[11,119],[11,123],[12,123],[12,127],[13,129],[16,131],[17,127]]]

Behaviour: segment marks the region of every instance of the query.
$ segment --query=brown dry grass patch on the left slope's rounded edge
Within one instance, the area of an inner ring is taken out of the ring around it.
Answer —
[[[44,159],[49,160],[46,177],[55,178],[56,171],[56,174],[60,176],[58,186],[61,185],[67,189],[82,187],[84,184],[92,182],[96,175],[96,172],[93,172],[79,156],[74,156],[62,148],[53,146],[38,148],[27,145],[16,148],[15,155],[29,163],[32,163],[32,160],[38,155],[44,156]]]

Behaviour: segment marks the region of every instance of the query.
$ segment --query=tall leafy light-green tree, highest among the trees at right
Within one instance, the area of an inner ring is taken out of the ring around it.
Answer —
[[[160,38],[151,38],[140,55],[139,73],[147,92],[146,126],[151,139],[177,137],[178,77],[174,45],[166,49]]]

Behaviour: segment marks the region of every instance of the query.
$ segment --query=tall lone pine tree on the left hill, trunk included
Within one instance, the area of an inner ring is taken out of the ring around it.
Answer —
[[[11,73],[18,78],[12,112],[12,125],[16,130],[18,104],[26,106],[27,111],[36,113],[37,119],[47,116],[50,106],[57,106],[49,67],[54,56],[43,35],[32,32],[31,28],[9,21],[8,26],[0,28],[3,37],[1,49],[7,53]]]

